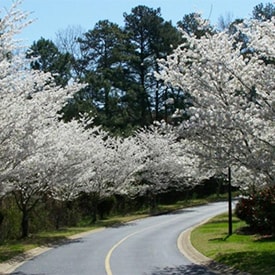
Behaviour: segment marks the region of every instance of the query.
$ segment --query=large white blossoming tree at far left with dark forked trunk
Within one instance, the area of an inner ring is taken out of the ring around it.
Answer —
[[[23,237],[28,234],[29,213],[41,197],[78,182],[79,144],[87,138],[77,123],[65,125],[57,115],[82,86],[54,85],[49,74],[31,70],[20,54],[14,35],[25,26],[25,18],[14,5],[0,21],[0,192],[15,196]]]

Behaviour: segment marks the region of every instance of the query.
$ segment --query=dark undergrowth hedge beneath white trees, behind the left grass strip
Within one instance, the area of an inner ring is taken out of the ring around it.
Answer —
[[[28,213],[28,236],[41,231],[62,230],[64,227],[91,225],[111,215],[128,215],[133,212],[159,213],[159,204],[169,205],[207,195],[221,194],[217,191],[219,183],[215,180],[201,184],[198,189],[175,190],[165,194],[131,198],[126,195],[113,195],[100,198],[97,193],[82,193],[74,201],[58,201],[47,196],[40,200]],[[21,237],[22,212],[18,209],[13,196],[6,196],[0,204],[0,243]]]

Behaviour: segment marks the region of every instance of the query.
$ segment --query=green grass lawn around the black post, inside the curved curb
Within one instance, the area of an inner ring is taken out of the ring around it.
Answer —
[[[245,223],[233,218],[228,236],[227,214],[217,216],[191,234],[193,246],[205,256],[253,275],[275,274],[275,238],[237,234]]]

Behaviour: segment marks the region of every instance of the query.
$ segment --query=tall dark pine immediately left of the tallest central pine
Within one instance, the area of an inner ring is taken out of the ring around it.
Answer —
[[[84,72],[83,82],[88,83],[83,93],[92,99],[96,122],[111,131],[123,130],[131,120],[127,115],[131,83],[126,67],[131,49],[126,41],[126,33],[108,20],[99,21],[79,39],[79,63]]]

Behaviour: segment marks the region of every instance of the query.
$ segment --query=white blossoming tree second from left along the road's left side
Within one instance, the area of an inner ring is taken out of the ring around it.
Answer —
[[[97,219],[98,205],[113,195],[133,194],[132,179],[142,164],[144,152],[133,137],[112,137],[99,128],[90,128],[86,161],[82,162],[81,191],[89,197],[90,214]]]

